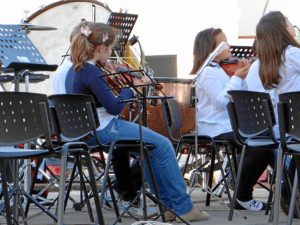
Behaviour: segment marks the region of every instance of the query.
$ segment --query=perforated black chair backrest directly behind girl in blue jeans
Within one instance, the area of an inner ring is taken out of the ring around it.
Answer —
[[[88,134],[96,134],[99,119],[91,95],[62,94],[48,98],[63,141],[76,141]]]

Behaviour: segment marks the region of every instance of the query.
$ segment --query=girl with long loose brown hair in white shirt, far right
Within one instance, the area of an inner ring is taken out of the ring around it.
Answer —
[[[252,64],[246,82],[249,90],[270,94],[275,114],[278,95],[285,92],[300,91],[300,45],[294,39],[295,30],[291,22],[279,11],[263,16],[256,26],[258,59]],[[278,127],[275,133],[279,136]],[[286,163],[290,179],[293,180],[294,160]],[[287,178],[283,174],[281,206],[289,210]],[[284,185],[285,184],[285,185]]]

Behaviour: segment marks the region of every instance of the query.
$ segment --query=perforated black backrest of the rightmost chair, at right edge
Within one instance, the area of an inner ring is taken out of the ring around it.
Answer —
[[[279,95],[278,121],[281,141],[287,135],[300,141],[300,92]]]

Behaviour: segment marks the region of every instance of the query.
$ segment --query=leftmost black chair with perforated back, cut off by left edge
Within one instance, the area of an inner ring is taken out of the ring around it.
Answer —
[[[18,147],[20,144],[35,141],[40,137],[45,139],[46,149],[21,149]],[[31,202],[57,221],[56,216],[25,192],[18,181],[19,159],[57,155],[50,141],[49,109],[46,95],[21,92],[0,93],[0,146],[1,179],[7,224],[18,223],[19,213],[24,218],[24,223],[27,224],[26,216]],[[12,186],[9,185],[11,191],[8,191],[7,175],[9,175],[9,169],[7,168],[9,168],[10,162],[13,162],[14,165],[12,168],[14,183]],[[39,165],[40,163],[37,164],[35,169],[33,185]],[[26,212],[23,209],[20,195],[28,199]],[[12,197],[14,198],[13,216],[10,208]]]

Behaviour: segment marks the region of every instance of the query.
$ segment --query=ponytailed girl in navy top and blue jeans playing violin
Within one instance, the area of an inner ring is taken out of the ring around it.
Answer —
[[[71,60],[74,66],[69,70],[67,90],[77,94],[90,94],[95,97],[101,119],[98,135],[103,143],[117,140],[139,140],[139,125],[122,120],[118,114],[125,107],[120,99],[130,99],[134,96],[131,89],[123,89],[119,96],[109,90],[103,71],[97,67],[98,62],[109,59],[115,43],[113,29],[106,24],[82,24],[81,32],[72,40]],[[134,81],[135,83],[136,81]],[[140,82],[140,81],[137,81]],[[171,142],[164,136],[143,127],[142,136],[145,142],[155,146],[150,155],[161,200],[187,221],[199,221],[208,215],[195,208],[181,175],[175,151]],[[150,185],[149,171],[145,164],[146,179]],[[116,176],[118,174],[116,173]],[[166,213],[166,219],[173,219]]]

